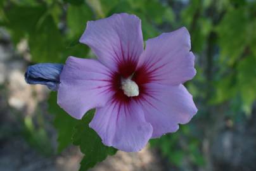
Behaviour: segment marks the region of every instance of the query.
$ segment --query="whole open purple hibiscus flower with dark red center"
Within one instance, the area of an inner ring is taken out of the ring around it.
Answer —
[[[115,14],[88,22],[80,42],[98,60],[69,57],[60,75],[58,105],[89,124],[106,146],[139,151],[150,138],[176,132],[197,109],[182,83],[192,79],[195,56],[186,28],[146,41],[141,20]]]

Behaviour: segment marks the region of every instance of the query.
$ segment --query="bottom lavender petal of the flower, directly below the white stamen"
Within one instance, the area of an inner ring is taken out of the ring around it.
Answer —
[[[127,152],[141,150],[152,135],[152,127],[135,101],[108,103],[97,108],[89,126],[96,130],[106,146]]]

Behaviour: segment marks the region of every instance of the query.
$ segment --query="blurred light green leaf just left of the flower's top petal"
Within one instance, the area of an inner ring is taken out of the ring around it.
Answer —
[[[93,19],[93,11],[87,4],[68,6],[67,25],[72,36],[82,35],[86,28],[86,22]]]

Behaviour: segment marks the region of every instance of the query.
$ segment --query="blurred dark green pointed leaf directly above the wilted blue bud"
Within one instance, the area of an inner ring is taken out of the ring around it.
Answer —
[[[30,33],[29,47],[30,53],[32,54],[32,61],[61,61],[60,53],[64,46],[60,31],[50,15],[46,16],[39,28]]]

